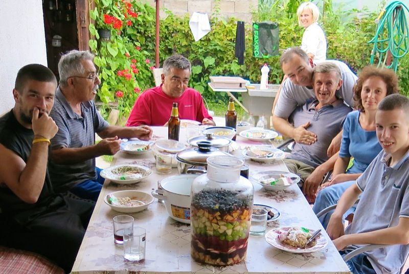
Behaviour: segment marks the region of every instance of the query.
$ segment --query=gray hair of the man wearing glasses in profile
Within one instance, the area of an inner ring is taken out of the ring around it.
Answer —
[[[58,62],[58,73],[60,75],[60,85],[65,86],[67,79],[75,75],[85,74],[82,60],[94,60],[94,54],[89,51],[72,50],[61,56]]]

